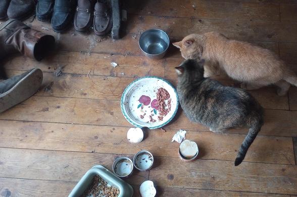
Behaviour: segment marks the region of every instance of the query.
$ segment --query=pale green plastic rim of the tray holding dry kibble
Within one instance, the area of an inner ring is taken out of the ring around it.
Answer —
[[[95,175],[100,176],[109,185],[119,189],[120,193],[118,197],[132,197],[133,188],[131,187],[131,185],[114,175],[111,171],[109,171],[102,165],[95,165],[91,169],[89,169],[75,185],[68,197],[79,197],[91,184],[91,181],[93,180],[93,177]]]

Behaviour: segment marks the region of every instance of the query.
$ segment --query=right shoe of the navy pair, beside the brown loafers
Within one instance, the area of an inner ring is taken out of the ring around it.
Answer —
[[[56,0],[54,13],[52,17],[52,26],[54,31],[61,32],[69,27],[73,21],[73,15],[76,8],[76,0]]]

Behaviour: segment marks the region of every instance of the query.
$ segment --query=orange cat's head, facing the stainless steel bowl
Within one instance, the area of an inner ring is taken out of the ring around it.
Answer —
[[[182,41],[172,43],[180,49],[181,56],[185,59],[200,60],[203,52],[202,36],[198,34],[190,34],[182,39]]]

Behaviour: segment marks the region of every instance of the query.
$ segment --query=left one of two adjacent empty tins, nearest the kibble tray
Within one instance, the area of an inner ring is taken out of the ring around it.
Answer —
[[[114,161],[113,172],[118,177],[127,177],[133,171],[133,162],[128,157],[119,157]]]

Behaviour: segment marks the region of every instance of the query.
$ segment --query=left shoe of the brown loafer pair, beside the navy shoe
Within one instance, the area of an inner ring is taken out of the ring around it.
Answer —
[[[88,30],[92,24],[94,0],[78,0],[74,16],[74,28],[78,32]]]

